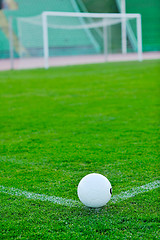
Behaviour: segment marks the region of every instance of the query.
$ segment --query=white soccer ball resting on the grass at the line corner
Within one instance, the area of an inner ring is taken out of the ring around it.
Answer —
[[[101,174],[91,173],[81,179],[77,193],[80,201],[87,207],[99,208],[106,205],[112,195],[109,180]]]

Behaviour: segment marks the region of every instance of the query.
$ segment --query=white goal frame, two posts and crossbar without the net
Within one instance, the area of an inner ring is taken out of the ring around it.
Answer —
[[[142,21],[141,14],[124,14],[124,13],[81,13],[81,12],[51,12],[46,11],[42,13],[42,27],[43,27],[43,50],[44,50],[44,66],[49,68],[49,46],[48,46],[48,16],[58,17],[82,17],[82,18],[121,18],[122,22],[126,19],[136,19],[137,30],[137,56],[138,61],[142,61]],[[123,27],[124,29],[124,27]],[[124,29],[124,31],[126,31]],[[107,54],[107,53],[106,53]],[[106,58],[107,59],[107,58]]]

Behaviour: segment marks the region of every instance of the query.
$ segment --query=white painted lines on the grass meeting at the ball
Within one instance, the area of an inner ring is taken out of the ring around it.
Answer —
[[[111,198],[111,202],[116,203],[116,202],[124,201],[128,198],[132,198],[138,194],[148,192],[150,190],[153,190],[159,187],[160,187],[159,180],[150,182],[146,185],[135,187],[135,188],[132,188],[131,190],[121,192],[120,194],[113,196]],[[66,199],[66,198],[61,198],[56,196],[48,196],[45,194],[37,194],[37,193],[22,191],[20,189],[9,188],[5,186],[0,186],[0,193],[6,193],[12,196],[23,196],[25,198],[32,199],[32,200],[48,201],[54,204],[59,204],[59,205],[69,206],[69,207],[82,206],[82,204],[79,201],[75,201],[72,199]]]

